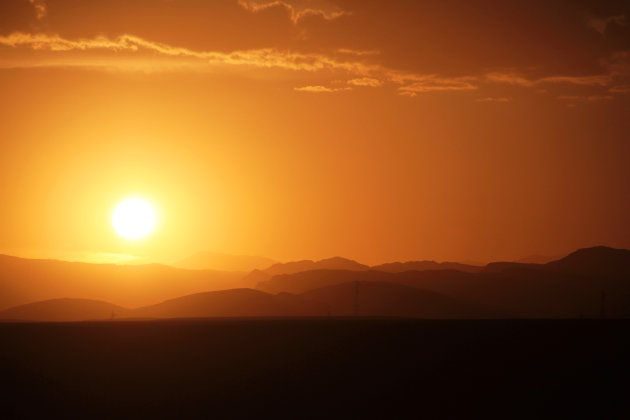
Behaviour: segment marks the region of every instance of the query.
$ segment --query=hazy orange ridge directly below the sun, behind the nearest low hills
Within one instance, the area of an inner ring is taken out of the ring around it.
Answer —
[[[63,297],[134,307],[174,296],[241,287],[243,273],[159,264],[113,265],[0,255],[0,310]]]

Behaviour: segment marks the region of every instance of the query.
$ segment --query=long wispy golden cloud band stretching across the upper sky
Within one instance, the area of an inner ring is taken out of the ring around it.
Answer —
[[[386,84],[394,85],[397,93],[404,96],[417,96],[427,92],[456,92],[474,91],[487,84],[511,84],[528,88],[541,89],[545,84],[570,84],[586,87],[609,87],[615,82],[617,86],[609,89],[613,93],[627,93],[626,58],[619,56],[613,63],[616,67],[610,67],[606,74],[589,76],[546,76],[541,78],[528,78],[518,72],[502,71],[482,74],[479,76],[450,77],[438,74],[420,74],[414,72],[399,71],[380,64],[371,64],[363,60],[344,60],[339,56],[320,53],[300,53],[290,50],[278,50],[274,48],[262,48],[254,50],[237,50],[232,52],[194,50],[169,44],[150,41],[134,35],[120,35],[115,38],[99,36],[87,39],[68,39],[55,34],[45,33],[21,33],[16,32],[7,36],[0,36],[0,46],[9,48],[21,48],[36,51],[65,52],[60,54],[65,57],[63,65],[72,66],[107,66],[115,63],[114,67],[129,68],[134,70],[133,60],[127,60],[129,55],[137,55],[148,66],[156,69],[169,68],[169,66],[182,65],[186,67],[203,66],[250,66],[256,68],[285,69],[291,71],[337,73],[335,77],[347,80],[345,88],[331,88],[321,85],[308,84],[297,91],[310,92],[334,92],[349,89],[350,86],[383,87]],[[103,58],[96,54],[88,54],[93,50],[106,50],[114,53],[126,53],[122,58]],[[75,52],[76,54],[70,54]],[[85,55],[84,55],[85,54]],[[49,61],[37,59],[32,61],[32,66],[47,65],[53,63],[54,58],[46,56]],[[41,58],[41,57],[40,57]],[[11,59],[8,59],[11,60]],[[28,66],[24,56],[21,62],[9,62],[5,60],[0,66],[16,67]],[[96,61],[99,60],[99,61]],[[126,61],[125,61],[126,60]],[[127,64],[125,65],[125,62]],[[127,66],[127,67],[125,67]],[[612,66],[612,64],[609,64]],[[546,86],[544,86],[546,87]],[[303,89],[304,88],[304,89]]]

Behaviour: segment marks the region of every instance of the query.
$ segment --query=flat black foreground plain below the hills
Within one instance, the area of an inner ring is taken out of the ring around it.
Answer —
[[[630,418],[630,320],[0,324],[2,418]]]

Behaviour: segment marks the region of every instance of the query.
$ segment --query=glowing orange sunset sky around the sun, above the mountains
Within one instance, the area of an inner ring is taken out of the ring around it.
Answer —
[[[0,98],[2,253],[630,248],[627,1],[2,0]]]

